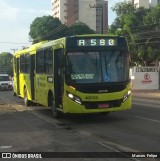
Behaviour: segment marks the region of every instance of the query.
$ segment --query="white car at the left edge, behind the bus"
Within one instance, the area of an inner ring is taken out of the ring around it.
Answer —
[[[0,90],[12,90],[12,80],[8,74],[0,74]]]

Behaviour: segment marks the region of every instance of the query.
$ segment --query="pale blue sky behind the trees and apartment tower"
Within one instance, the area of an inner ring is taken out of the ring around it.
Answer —
[[[116,17],[111,7],[123,1],[108,0],[109,25]],[[0,0],[0,53],[29,46],[30,25],[44,15],[51,15],[51,0]]]

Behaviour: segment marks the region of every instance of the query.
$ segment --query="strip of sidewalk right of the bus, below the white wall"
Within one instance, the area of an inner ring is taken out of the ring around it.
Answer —
[[[160,101],[160,90],[132,90],[133,98],[143,98]]]

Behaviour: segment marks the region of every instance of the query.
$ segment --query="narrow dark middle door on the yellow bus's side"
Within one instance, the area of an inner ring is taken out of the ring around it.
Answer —
[[[32,100],[35,100],[35,54],[30,55],[30,84]]]

